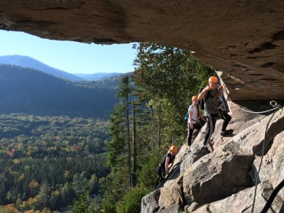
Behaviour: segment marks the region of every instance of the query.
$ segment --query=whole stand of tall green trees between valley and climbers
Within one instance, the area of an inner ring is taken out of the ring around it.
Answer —
[[[141,197],[158,183],[155,168],[161,158],[173,143],[178,147],[185,143],[184,115],[191,97],[197,95],[202,84],[214,74],[186,50],[153,43],[141,43],[136,49],[132,81],[121,82],[122,85],[134,84],[131,95],[135,97],[135,123],[133,111],[126,110],[129,92],[119,90],[118,97],[123,100],[111,114],[112,139],[107,148],[112,173],[101,182],[104,196],[99,206],[104,212],[140,212]],[[134,146],[128,146],[133,153],[133,173],[138,177],[137,187],[130,188],[126,169],[128,132],[133,138],[131,143],[134,145],[135,141],[137,148],[134,155]],[[135,159],[137,170],[134,170]],[[126,196],[121,197],[125,193]]]

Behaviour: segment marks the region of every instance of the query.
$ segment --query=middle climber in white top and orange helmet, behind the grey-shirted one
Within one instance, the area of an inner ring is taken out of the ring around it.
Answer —
[[[190,104],[190,107],[188,107],[188,120],[187,120],[187,145],[188,146],[191,146],[193,131],[196,129],[199,132],[202,127],[200,122],[198,122],[198,119],[202,119],[205,121],[204,117],[200,114],[198,97],[194,95],[192,96],[192,104]]]

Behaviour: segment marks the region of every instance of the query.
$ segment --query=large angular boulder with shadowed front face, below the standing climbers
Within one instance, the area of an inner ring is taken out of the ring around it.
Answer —
[[[200,158],[183,175],[186,204],[196,202],[200,206],[251,187],[253,158],[236,143],[226,144]]]

